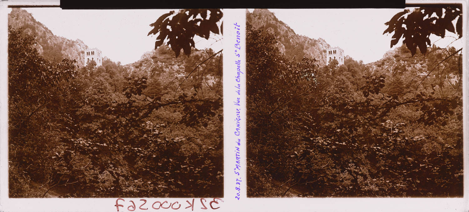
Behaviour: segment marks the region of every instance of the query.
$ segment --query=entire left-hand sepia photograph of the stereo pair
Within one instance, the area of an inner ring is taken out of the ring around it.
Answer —
[[[223,197],[223,10],[8,9],[9,198]]]

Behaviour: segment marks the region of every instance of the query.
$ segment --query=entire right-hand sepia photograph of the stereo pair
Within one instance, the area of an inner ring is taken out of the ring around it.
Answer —
[[[246,10],[248,197],[462,198],[462,7]]]

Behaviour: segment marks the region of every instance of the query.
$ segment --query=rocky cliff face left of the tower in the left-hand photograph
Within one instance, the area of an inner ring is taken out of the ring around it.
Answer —
[[[28,33],[34,33],[37,38],[37,49],[46,59],[60,62],[63,58],[75,59],[79,66],[84,64],[84,51],[88,46],[83,41],[75,41],[54,35],[44,24],[36,21],[26,10],[13,8],[8,14],[8,25],[12,28],[23,28]]]

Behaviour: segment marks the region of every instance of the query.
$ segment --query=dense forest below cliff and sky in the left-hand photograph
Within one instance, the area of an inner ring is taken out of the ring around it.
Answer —
[[[220,52],[77,67],[8,38],[11,198],[223,195]]]

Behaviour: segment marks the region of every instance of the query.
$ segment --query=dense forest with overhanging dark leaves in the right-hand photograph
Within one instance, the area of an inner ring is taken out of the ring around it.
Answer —
[[[248,196],[462,197],[461,49],[410,41],[411,25],[401,53],[323,67],[248,25]]]

